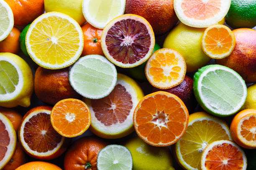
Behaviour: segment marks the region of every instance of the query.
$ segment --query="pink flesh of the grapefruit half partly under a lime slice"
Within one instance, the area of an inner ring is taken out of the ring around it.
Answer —
[[[131,94],[120,84],[102,99],[92,100],[95,117],[105,126],[123,123],[133,107]]]

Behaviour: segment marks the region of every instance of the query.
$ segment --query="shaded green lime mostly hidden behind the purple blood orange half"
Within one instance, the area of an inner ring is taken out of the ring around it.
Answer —
[[[161,47],[158,44],[155,43],[153,52],[155,52],[156,50],[159,50],[160,48]],[[146,63],[147,63],[147,61],[143,62],[141,65],[138,65],[136,67],[127,68],[126,73],[130,77],[134,78],[135,80],[139,80],[141,82],[147,81],[147,77],[145,75]]]

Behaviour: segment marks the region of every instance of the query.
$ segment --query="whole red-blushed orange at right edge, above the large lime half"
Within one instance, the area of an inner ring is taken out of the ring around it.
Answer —
[[[240,28],[233,30],[233,33],[236,37],[235,49],[216,63],[235,70],[246,82],[256,82],[256,30]]]

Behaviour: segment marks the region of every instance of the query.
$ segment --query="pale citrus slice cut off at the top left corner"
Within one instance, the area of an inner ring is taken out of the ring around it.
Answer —
[[[13,12],[10,6],[4,1],[0,0],[0,41],[4,40],[13,29]]]

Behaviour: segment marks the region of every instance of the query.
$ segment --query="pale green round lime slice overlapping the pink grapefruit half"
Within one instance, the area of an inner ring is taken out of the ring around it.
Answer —
[[[100,99],[115,87],[115,66],[101,55],[81,57],[70,69],[69,82],[80,95]]]

